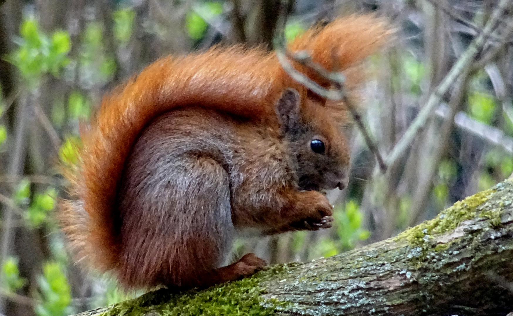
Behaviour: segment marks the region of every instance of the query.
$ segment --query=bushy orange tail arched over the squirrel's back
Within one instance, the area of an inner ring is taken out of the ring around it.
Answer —
[[[364,15],[314,28],[290,45],[306,50],[325,68],[346,70],[383,45],[390,29]],[[358,78],[348,76],[349,87]],[[116,189],[132,146],[157,116],[178,107],[201,106],[252,119],[273,118],[284,88],[298,87],[273,53],[242,47],[155,61],[122,89],[106,96],[90,127],[81,133],[80,159],[67,169],[73,200],[60,203],[63,229],[78,259],[100,271],[116,267]]]

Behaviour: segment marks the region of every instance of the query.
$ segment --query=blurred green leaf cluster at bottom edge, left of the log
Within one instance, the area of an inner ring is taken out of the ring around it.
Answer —
[[[38,316],[65,316],[72,313],[71,288],[62,266],[55,262],[43,266],[43,276],[37,279],[41,303],[35,306]]]

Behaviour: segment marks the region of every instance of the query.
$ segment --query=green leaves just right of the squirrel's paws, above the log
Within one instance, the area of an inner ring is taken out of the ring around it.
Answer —
[[[350,200],[344,209],[335,209],[333,217],[339,236],[338,245],[342,251],[350,250],[357,241],[369,238],[369,231],[362,229],[362,213],[357,202]]]

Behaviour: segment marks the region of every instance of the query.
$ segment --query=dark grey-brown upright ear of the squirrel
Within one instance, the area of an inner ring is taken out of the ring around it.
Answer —
[[[283,91],[274,110],[278,115],[281,129],[286,131],[293,130],[301,121],[300,114],[301,96],[294,89]]]

